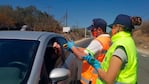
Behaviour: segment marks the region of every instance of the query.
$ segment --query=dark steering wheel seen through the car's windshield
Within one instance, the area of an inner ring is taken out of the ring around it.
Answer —
[[[18,67],[21,70],[26,70],[27,68],[27,64],[20,62],[20,61],[12,61],[8,63],[8,66],[12,66],[12,67]]]

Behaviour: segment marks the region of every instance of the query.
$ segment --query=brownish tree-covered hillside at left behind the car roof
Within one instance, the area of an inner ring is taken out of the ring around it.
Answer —
[[[34,6],[25,8],[0,6],[0,29],[19,29],[24,24],[34,31],[62,31],[57,20]]]

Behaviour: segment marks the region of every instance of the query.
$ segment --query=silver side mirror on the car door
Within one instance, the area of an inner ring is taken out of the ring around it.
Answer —
[[[51,71],[49,78],[52,80],[53,84],[56,84],[58,81],[67,79],[70,76],[70,71],[65,68],[55,68]]]

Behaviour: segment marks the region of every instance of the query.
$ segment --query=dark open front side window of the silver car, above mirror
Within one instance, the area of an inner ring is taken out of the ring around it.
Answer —
[[[61,55],[55,52],[55,49],[53,48],[53,43],[58,42],[61,46]],[[65,59],[67,57],[66,50],[64,51],[62,45],[66,43],[67,41],[62,37],[54,37],[49,40],[45,54],[44,54],[44,61],[42,64],[42,70],[40,74],[40,81],[39,84],[51,84],[51,79],[49,79],[49,74],[52,69],[56,67],[61,67],[63,63],[65,62]]]

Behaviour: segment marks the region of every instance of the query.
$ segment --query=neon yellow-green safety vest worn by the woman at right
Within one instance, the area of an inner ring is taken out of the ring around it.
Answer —
[[[112,36],[113,44],[106,53],[105,59],[101,64],[101,68],[107,72],[109,67],[109,62],[114,53],[115,49],[119,46],[122,46],[126,50],[128,62],[125,65],[125,68],[121,69],[119,75],[117,76],[115,82],[122,84],[136,84],[137,81],[137,68],[138,68],[138,57],[135,43],[130,35],[127,32],[119,32]],[[105,84],[102,80],[97,80],[96,84]]]

